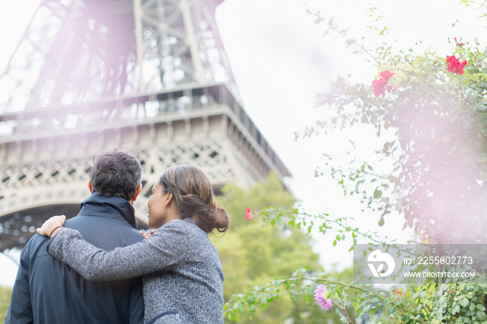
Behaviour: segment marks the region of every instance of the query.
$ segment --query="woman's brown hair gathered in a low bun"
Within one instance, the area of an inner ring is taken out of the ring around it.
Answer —
[[[177,165],[162,175],[161,186],[172,193],[179,206],[181,218],[191,217],[205,233],[216,229],[224,233],[230,226],[230,216],[216,204],[213,188],[202,170],[193,165]]]

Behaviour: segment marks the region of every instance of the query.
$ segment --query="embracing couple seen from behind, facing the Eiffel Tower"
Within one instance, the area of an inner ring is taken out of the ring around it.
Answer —
[[[51,239],[35,235],[22,251],[6,323],[223,323],[223,270],[207,234],[225,232],[230,218],[202,171],[163,173],[147,203],[159,229],[147,238],[136,231],[132,154],[96,156],[88,188],[77,217],[50,218],[38,233]]]

